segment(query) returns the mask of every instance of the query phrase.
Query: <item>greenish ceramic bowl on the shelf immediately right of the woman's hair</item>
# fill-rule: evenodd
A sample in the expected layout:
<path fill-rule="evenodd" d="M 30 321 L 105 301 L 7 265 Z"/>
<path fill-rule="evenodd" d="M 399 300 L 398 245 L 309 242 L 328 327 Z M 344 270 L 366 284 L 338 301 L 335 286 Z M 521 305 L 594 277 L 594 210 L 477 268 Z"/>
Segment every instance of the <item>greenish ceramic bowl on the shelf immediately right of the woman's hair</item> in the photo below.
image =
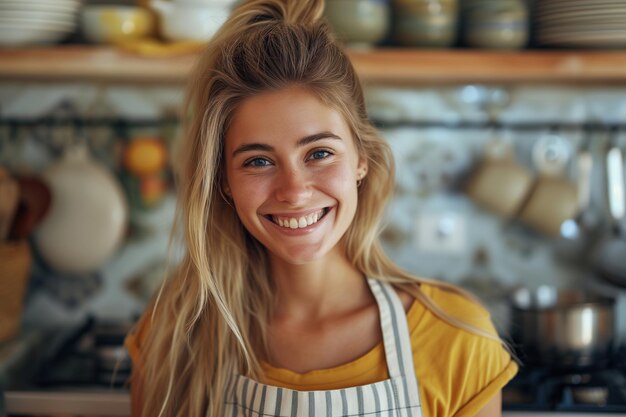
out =
<path fill-rule="evenodd" d="M 339 39 L 352 47 L 381 42 L 390 25 L 390 7 L 380 0 L 327 0 L 326 19 Z"/>

